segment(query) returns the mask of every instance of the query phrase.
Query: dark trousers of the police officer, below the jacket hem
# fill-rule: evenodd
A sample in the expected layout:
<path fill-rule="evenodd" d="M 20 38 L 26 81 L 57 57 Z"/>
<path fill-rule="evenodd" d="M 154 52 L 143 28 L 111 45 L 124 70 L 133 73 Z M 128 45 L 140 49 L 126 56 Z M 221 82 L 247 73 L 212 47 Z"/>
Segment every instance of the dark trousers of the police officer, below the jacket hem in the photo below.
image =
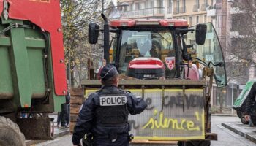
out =
<path fill-rule="evenodd" d="M 118 136 L 116 142 L 110 139 L 94 138 L 94 146 L 129 146 L 129 138 L 127 136 Z"/>

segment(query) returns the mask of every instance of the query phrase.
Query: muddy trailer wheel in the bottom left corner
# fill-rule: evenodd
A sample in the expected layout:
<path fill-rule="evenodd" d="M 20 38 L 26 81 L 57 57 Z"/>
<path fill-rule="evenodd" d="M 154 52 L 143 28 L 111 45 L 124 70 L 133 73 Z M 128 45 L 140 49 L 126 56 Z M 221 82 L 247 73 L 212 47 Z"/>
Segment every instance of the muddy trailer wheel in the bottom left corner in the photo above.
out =
<path fill-rule="evenodd" d="M 16 123 L 0 116 L 0 146 L 6 145 L 26 146 L 25 137 Z"/>

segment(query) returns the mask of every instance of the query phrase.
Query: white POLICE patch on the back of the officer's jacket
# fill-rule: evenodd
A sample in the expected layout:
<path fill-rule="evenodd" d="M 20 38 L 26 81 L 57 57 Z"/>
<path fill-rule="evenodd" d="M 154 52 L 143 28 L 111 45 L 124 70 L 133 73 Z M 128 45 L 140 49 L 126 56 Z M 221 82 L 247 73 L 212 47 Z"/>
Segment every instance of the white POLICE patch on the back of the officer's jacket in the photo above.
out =
<path fill-rule="evenodd" d="M 99 102 L 101 106 L 124 105 L 127 103 L 127 96 L 100 96 Z"/>

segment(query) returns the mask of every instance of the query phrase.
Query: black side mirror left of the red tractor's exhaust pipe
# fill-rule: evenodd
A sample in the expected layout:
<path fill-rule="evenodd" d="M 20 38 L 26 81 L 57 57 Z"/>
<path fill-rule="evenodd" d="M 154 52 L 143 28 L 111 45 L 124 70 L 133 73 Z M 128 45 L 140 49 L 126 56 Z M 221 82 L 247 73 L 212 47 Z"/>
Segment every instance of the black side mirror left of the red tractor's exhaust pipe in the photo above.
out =
<path fill-rule="evenodd" d="M 99 25 L 96 23 L 90 23 L 88 28 L 88 41 L 90 44 L 96 44 L 99 37 Z"/>

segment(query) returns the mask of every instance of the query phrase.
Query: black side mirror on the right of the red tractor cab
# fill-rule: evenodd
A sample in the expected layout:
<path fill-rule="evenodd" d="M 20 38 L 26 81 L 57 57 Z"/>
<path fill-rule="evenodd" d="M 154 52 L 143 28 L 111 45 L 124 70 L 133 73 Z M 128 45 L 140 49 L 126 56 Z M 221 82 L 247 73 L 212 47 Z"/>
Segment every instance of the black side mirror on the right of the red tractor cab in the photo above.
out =
<path fill-rule="evenodd" d="M 198 45 L 204 45 L 206 41 L 206 31 L 207 31 L 206 24 L 197 24 L 196 31 L 195 31 L 195 42 Z"/>

